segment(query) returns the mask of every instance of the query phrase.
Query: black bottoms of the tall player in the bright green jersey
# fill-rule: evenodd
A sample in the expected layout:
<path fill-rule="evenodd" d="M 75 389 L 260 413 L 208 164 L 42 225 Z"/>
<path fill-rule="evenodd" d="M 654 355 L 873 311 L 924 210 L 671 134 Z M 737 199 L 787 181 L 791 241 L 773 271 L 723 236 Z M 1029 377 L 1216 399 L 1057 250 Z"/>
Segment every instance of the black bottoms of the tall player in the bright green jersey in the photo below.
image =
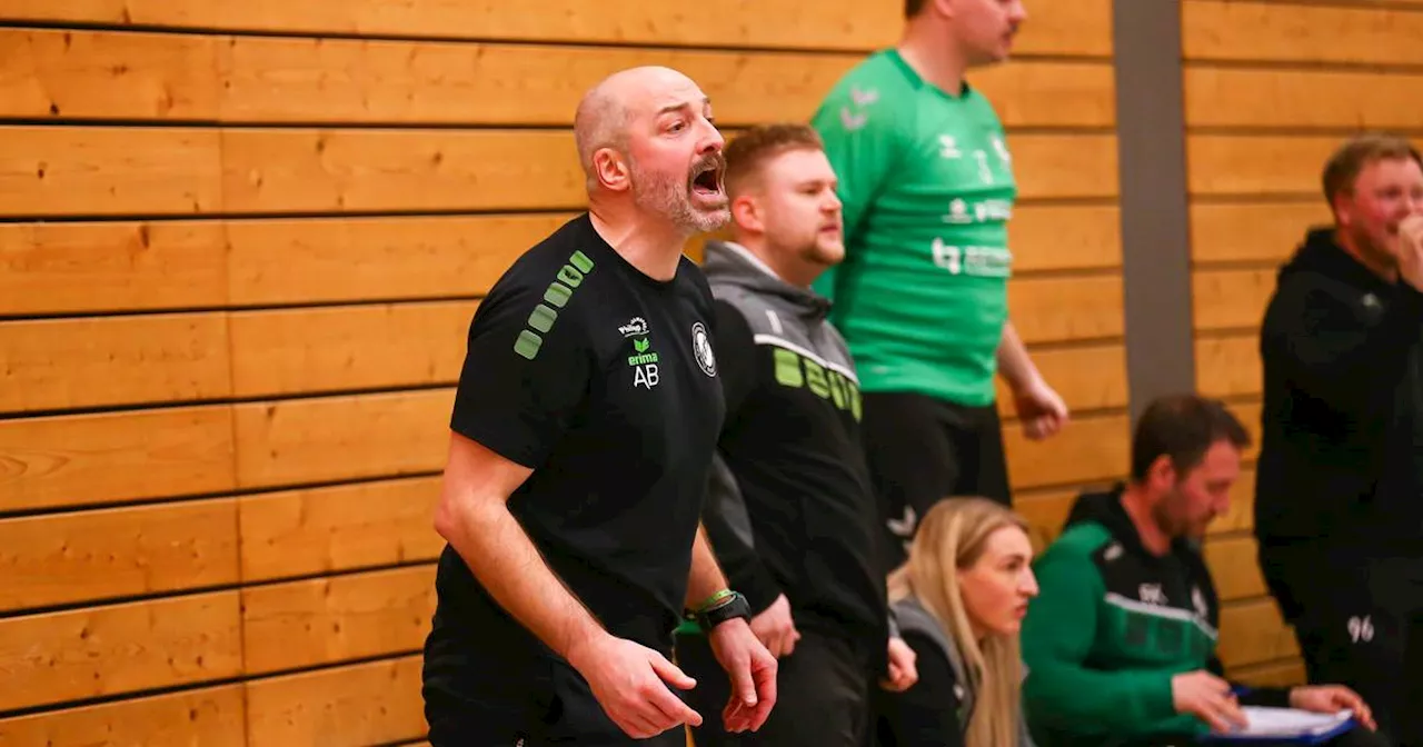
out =
<path fill-rule="evenodd" d="M 955 495 L 1012 505 L 998 407 L 924 394 L 865 393 L 861 434 L 885 516 L 884 571 L 905 561 L 918 518 Z"/>

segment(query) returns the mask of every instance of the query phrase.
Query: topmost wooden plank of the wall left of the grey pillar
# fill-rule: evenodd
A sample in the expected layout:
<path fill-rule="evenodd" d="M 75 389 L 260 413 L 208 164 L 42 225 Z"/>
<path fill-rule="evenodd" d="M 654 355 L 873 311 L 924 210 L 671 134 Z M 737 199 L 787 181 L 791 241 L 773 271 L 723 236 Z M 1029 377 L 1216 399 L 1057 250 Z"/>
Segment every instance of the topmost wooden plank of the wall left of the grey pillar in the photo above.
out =
<path fill-rule="evenodd" d="M 902 7 L 831 0 L 733 0 L 717 13 L 613 3 L 593 9 L 578 0 L 541 0 L 529 13 L 502 3 L 421 0 L 390 4 L 353 0 L 255 0 L 238 9 L 221 0 L 10 0 L 0 20 L 85 21 L 346 36 L 475 37 L 519 41 L 844 48 L 892 44 Z M 1016 50 L 1022 54 L 1111 53 L 1110 0 L 1043 3 L 1032 9 Z"/>

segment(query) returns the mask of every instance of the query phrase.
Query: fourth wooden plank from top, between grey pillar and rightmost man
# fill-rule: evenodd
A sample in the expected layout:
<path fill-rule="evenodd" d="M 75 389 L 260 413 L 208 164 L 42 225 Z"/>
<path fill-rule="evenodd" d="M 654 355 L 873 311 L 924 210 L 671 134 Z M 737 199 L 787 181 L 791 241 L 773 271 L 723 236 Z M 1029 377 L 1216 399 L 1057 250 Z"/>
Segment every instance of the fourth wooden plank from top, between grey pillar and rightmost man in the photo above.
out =
<path fill-rule="evenodd" d="M 1294 255 L 1309 226 L 1331 221 L 1322 195 L 1305 202 L 1198 202 L 1191 205 L 1191 259 L 1278 265 Z"/>

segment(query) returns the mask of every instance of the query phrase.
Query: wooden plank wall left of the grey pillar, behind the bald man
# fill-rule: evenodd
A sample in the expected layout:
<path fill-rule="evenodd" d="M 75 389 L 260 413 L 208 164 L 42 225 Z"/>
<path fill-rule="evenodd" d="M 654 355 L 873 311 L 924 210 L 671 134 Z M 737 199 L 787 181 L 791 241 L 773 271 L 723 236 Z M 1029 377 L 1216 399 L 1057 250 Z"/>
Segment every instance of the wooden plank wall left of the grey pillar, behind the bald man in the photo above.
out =
<path fill-rule="evenodd" d="M 975 81 L 1023 192 L 1013 314 L 1076 413 L 1009 431 L 1044 539 L 1124 470 L 1127 384 L 1110 1 L 1032 11 Z M 420 740 L 464 332 L 582 205 L 579 94 L 663 63 L 730 129 L 804 120 L 899 23 L 0 0 L 0 744 Z"/>

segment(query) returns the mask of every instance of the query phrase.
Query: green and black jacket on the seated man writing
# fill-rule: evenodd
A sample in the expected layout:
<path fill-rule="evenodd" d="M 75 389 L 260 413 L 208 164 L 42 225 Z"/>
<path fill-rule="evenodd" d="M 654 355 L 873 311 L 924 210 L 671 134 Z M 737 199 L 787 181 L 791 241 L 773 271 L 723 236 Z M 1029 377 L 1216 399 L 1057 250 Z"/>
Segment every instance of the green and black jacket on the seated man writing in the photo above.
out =
<path fill-rule="evenodd" d="M 1033 565 L 1042 590 L 1023 623 L 1023 706 L 1043 747 L 1208 730 L 1175 713 L 1171 677 L 1221 674 L 1215 585 L 1191 541 L 1177 539 L 1164 556 L 1147 552 L 1121 491 L 1079 497 Z M 1241 701 L 1284 706 L 1288 692 L 1259 689 Z"/>

